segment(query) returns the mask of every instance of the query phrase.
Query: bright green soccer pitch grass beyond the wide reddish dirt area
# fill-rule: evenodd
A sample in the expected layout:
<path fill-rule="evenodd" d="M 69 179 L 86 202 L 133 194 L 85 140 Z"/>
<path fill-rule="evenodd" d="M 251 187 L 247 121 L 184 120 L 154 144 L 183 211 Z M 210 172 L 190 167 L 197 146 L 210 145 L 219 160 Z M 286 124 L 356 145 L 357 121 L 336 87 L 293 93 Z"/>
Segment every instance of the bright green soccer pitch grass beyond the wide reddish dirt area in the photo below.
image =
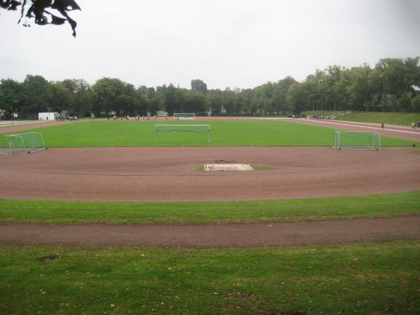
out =
<path fill-rule="evenodd" d="M 42 132 L 48 147 L 83 146 L 208 146 L 207 132 L 158 132 L 155 124 L 179 124 L 162 121 L 86 121 L 43 127 L 25 132 Z M 330 128 L 285 121 L 195 121 L 185 124 L 209 124 L 211 146 L 331 146 Z M 381 137 L 382 146 L 412 146 L 413 141 Z M 420 145 L 420 143 L 418 144 Z"/>

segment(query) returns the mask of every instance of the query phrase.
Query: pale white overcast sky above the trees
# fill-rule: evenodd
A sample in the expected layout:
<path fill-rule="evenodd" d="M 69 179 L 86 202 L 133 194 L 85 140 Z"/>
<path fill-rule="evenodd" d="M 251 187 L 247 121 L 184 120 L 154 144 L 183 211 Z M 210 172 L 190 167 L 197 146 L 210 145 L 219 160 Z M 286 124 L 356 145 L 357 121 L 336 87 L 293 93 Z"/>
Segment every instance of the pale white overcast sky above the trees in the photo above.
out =
<path fill-rule="evenodd" d="M 0 13 L 0 78 L 255 87 L 326 66 L 420 55 L 420 0 L 76 0 L 69 25 Z M 116 4 L 115 4 L 116 3 Z"/>

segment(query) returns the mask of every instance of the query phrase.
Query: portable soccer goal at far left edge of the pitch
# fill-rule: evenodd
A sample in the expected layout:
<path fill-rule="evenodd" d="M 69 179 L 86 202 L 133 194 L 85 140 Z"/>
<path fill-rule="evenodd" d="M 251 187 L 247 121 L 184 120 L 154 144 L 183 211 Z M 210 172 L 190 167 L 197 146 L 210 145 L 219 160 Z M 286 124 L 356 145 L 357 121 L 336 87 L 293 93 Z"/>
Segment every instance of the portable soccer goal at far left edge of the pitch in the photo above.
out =
<path fill-rule="evenodd" d="M 13 152 L 35 153 L 46 150 L 41 132 L 25 134 L 5 134 L 0 141 L 0 154 Z"/>

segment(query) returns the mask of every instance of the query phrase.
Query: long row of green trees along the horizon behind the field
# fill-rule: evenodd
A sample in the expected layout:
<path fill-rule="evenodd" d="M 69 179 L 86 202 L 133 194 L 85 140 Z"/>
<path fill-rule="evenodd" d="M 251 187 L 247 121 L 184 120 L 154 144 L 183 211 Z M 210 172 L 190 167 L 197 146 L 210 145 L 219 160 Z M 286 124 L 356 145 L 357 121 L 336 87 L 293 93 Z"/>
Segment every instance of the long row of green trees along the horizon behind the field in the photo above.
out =
<path fill-rule="evenodd" d="M 134 116 L 157 111 L 214 116 L 289 116 L 302 111 L 420 112 L 419 57 L 381 59 L 346 68 L 328 66 L 298 82 L 287 76 L 252 89 L 209 90 L 200 79 L 190 89 L 173 84 L 135 87 L 118 78 L 100 78 L 93 85 L 83 79 L 48 81 L 28 75 L 23 82 L 0 80 L 0 109 L 7 118 L 36 117 L 55 111 L 78 117 Z"/>

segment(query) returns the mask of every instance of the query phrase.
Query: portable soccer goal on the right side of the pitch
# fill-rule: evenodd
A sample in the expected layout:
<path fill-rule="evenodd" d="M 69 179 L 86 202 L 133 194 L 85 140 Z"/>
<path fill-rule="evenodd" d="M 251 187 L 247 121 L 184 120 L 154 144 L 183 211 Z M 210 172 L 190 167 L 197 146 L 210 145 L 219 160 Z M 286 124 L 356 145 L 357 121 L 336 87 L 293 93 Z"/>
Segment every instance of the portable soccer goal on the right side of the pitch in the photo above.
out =
<path fill-rule="evenodd" d="M 381 134 L 378 132 L 335 132 L 336 149 L 380 150 Z"/>

